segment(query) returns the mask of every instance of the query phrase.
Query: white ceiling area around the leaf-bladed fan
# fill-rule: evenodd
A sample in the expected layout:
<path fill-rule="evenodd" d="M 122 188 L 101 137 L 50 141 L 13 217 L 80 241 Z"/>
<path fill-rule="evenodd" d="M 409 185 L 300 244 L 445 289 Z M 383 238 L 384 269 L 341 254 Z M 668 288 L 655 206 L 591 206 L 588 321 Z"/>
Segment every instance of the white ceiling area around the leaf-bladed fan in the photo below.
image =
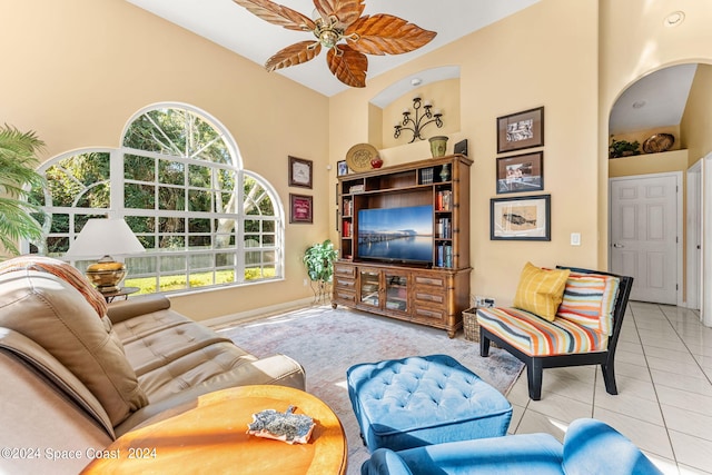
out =
<path fill-rule="evenodd" d="M 231 0 L 126 0 L 166 20 L 205 37 L 258 65 L 280 49 L 314 39 L 308 32 L 290 31 L 268 23 Z M 437 36 L 425 47 L 397 56 L 368 56 L 368 78 L 432 51 L 540 0 L 365 0 L 364 14 L 389 13 Z M 312 17 L 312 0 L 278 0 L 277 3 Z M 326 52 L 299 66 L 279 70 L 284 75 L 325 96 L 334 96 L 347 86 L 326 66 Z"/>

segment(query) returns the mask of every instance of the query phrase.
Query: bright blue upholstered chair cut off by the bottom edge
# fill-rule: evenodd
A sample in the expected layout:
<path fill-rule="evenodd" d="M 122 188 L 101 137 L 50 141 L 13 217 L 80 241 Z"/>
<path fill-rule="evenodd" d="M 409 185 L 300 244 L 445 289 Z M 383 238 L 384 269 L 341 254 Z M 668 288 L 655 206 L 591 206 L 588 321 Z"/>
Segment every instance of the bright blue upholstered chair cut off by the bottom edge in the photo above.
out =
<path fill-rule="evenodd" d="M 375 451 L 362 475 L 662 474 L 631 441 L 594 419 L 574 420 L 562 445 L 548 434 L 448 442 L 407 451 Z"/>

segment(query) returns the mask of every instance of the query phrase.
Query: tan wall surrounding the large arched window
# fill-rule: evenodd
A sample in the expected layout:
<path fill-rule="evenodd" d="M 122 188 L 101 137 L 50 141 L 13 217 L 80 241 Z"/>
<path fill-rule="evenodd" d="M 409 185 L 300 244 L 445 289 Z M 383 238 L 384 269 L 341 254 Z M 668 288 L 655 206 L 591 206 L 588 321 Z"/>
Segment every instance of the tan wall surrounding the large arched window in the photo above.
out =
<path fill-rule="evenodd" d="M 327 196 L 328 99 L 123 0 L 0 0 L 0 120 L 36 130 L 43 159 L 117 147 L 145 106 L 187 102 L 221 121 L 245 168 L 269 180 L 287 211 L 286 280 L 172 298 L 196 319 L 308 298 L 300 256 L 328 237 L 333 202 L 314 225 L 288 224 L 289 192 Z M 287 156 L 314 160 L 314 189 L 288 188 Z"/>

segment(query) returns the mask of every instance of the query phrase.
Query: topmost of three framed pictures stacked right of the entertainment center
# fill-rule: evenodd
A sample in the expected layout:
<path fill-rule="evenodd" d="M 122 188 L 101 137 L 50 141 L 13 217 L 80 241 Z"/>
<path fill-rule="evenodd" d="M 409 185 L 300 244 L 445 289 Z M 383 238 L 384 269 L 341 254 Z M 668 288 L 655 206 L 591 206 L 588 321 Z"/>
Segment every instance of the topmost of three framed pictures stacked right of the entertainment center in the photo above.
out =
<path fill-rule="evenodd" d="M 497 117 L 497 154 L 544 145 L 544 107 Z"/>

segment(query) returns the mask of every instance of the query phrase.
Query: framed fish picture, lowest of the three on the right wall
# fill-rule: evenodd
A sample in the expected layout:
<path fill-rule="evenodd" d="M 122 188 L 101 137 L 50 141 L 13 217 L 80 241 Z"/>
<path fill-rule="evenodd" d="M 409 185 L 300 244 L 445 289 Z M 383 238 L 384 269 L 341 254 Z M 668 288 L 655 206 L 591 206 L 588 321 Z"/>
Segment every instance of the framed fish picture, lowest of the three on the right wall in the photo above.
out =
<path fill-rule="evenodd" d="M 551 195 L 492 198 L 490 239 L 552 240 Z"/>

